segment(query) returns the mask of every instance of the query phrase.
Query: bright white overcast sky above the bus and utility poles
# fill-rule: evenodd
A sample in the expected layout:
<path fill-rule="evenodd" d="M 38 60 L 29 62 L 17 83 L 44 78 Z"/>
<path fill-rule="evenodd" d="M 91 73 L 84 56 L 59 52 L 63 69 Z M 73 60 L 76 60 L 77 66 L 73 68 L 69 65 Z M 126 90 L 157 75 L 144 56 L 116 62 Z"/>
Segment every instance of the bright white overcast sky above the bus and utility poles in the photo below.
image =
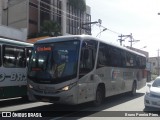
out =
<path fill-rule="evenodd" d="M 93 24 L 92 35 L 120 45 L 119 35 L 130 35 L 139 42 L 132 47 L 149 52 L 157 57 L 160 49 L 160 0 L 86 0 L 91 7 L 91 21 L 102 20 L 102 27 Z M 123 46 L 130 46 L 130 39 Z"/>

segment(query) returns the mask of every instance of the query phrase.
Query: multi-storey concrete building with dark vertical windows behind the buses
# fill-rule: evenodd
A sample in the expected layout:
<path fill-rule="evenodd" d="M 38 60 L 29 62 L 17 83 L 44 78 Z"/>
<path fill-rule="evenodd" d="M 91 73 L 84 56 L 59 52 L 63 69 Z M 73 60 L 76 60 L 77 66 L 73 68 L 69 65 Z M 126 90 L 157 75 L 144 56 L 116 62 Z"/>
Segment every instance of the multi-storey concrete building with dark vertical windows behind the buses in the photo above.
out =
<path fill-rule="evenodd" d="M 91 34 L 90 7 L 75 9 L 68 0 L 3 0 L 2 24 L 13 28 L 27 28 L 28 36 L 40 32 L 45 20 L 61 26 L 61 35 Z M 54 34 L 54 33 L 53 33 Z"/>

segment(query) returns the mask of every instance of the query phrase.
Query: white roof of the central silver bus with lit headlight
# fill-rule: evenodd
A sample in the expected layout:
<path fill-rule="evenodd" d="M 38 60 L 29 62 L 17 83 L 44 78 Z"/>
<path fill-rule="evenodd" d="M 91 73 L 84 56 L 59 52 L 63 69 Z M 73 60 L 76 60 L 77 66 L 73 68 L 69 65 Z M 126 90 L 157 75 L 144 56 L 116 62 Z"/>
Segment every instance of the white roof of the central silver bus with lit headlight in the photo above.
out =
<path fill-rule="evenodd" d="M 46 38 L 46 39 L 39 40 L 39 41 L 35 42 L 35 44 L 51 43 L 51 42 L 62 42 L 62 41 L 68 41 L 68 40 L 86 40 L 86 39 L 96 40 L 96 41 L 99 41 L 99 42 L 102 42 L 102 43 L 106 43 L 106 44 L 108 44 L 108 45 L 111 45 L 111 46 L 114 46 L 114 47 L 123 49 L 123 50 L 125 50 L 125 51 L 129 51 L 129 52 L 138 54 L 138 55 L 140 55 L 140 56 L 146 57 L 146 56 L 145 56 L 144 54 L 142 54 L 142 53 L 133 51 L 133 50 L 128 49 L 128 48 L 126 48 L 126 47 L 122 47 L 122 46 L 119 46 L 119 45 L 116 45 L 116 44 L 112 44 L 112 43 L 110 43 L 110 42 L 107 42 L 107 41 L 105 41 L 105 40 L 98 39 L 98 38 L 93 37 L 93 36 L 90 36 L 90 35 L 68 35 L 68 36 L 50 37 L 50 38 Z"/>

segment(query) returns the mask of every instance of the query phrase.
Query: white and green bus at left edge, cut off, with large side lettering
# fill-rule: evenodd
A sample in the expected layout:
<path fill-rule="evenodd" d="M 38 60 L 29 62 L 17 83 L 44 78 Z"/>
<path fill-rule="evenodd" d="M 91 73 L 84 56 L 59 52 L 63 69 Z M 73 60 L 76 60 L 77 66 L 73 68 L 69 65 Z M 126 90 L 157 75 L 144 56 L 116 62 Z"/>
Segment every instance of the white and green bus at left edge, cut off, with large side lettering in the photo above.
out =
<path fill-rule="evenodd" d="M 27 96 L 27 59 L 33 44 L 0 38 L 0 99 Z"/>

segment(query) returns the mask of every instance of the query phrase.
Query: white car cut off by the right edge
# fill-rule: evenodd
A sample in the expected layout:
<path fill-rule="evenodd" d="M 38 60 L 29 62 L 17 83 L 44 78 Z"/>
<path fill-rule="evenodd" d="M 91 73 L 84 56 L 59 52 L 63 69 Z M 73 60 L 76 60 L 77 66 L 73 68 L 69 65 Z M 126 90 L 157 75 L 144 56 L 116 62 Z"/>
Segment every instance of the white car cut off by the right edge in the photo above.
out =
<path fill-rule="evenodd" d="M 160 108 L 160 77 L 157 77 L 151 83 L 147 83 L 147 86 L 148 90 L 144 96 L 145 108 Z"/>

